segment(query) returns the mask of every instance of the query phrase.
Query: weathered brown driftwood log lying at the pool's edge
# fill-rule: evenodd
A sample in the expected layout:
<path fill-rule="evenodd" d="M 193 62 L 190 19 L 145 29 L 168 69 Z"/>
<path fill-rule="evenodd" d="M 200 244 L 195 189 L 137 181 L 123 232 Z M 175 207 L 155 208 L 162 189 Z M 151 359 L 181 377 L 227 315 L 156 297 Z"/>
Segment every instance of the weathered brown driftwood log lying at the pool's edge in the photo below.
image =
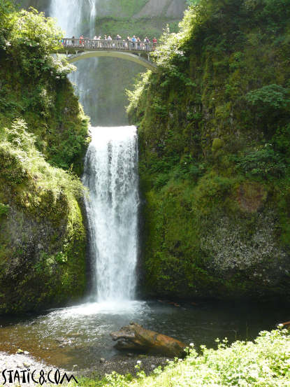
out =
<path fill-rule="evenodd" d="M 141 325 L 130 323 L 117 332 L 110 333 L 116 349 L 143 351 L 146 353 L 160 353 L 174 358 L 184 356 L 186 344 L 166 335 L 147 330 Z"/>

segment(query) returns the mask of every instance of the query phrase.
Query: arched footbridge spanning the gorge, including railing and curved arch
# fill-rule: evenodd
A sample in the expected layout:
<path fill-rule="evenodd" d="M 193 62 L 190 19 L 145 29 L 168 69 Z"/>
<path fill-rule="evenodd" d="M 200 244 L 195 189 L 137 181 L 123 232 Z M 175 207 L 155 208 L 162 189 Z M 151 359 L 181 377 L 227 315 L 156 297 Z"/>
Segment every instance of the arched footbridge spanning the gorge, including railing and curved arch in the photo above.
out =
<path fill-rule="evenodd" d="M 64 38 L 61 44 L 63 47 L 57 53 L 66 54 L 69 63 L 92 57 L 115 57 L 138 63 L 154 72 L 158 69 L 150 60 L 150 53 L 158 43 Z"/>

